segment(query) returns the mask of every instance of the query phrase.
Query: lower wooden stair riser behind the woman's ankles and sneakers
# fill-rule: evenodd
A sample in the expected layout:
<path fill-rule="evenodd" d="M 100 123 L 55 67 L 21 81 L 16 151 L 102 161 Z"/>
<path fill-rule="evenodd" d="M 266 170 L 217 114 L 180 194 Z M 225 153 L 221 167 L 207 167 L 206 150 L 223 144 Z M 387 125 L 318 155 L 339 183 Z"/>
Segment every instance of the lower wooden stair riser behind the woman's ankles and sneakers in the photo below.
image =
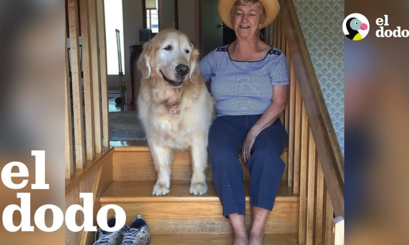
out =
<path fill-rule="evenodd" d="M 152 234 L 232 234 L 228 219 L 222 216 L 218 200 L 113 204 L 125 210 L 126 224 L 130 224 L 137 214 L 142 214 Z M 108 217 L 113 214 L 112 210 L 108 211 Z M 297 214 L 297 201 L 276 200 L 265 224 L 265 233 L 295 234 Z M 245 219 L 247 231 L 249 231 L 251 213 L 248 201 Z"/>

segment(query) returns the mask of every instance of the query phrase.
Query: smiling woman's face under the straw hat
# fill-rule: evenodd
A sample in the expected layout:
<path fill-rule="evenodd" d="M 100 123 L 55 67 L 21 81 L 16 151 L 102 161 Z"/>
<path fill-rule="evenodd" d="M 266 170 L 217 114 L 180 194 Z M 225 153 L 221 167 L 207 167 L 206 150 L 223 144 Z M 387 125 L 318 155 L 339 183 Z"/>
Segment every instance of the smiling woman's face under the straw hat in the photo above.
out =
<path fill-rule="evenodd" d="M 233 28 L 237 37 L 256 35 L 260 20 L 261 13 L 255 4 L 238 6 L 233 16 Z"/>

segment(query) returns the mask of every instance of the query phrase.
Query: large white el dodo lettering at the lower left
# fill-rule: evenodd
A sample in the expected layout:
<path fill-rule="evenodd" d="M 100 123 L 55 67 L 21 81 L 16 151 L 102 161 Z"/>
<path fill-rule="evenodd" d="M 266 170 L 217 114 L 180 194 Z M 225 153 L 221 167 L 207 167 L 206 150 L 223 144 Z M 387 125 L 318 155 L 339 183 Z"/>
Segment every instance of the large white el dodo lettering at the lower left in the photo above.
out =
<path fill-rule="evenodd" d="M 49 189 L 49 184 L 45 183 L 45 150 L 32 150 L 31 155 L 35 156 L 35 183 L 31 184 L 31 189 Z M 17 168 L 18 171 L 12 171 L 13 168 Z M 15 179 L 15 177 L 20 177 Z M 23 178 L 21 180 L 21 177 Z M 1 181 L 10 189 L 24 188 L 28 179 L 27 166 L 19 161 L 10 161 L 1 170 Z M 17 183 L 16 183 L 17 182 Z M 93 223 L 93 193 L 92 192 L 79 192 L 79 198 L 82 200 L 82 206 L 79 204 L 72 204 L 66 207 L 65 210 L 65 225 L 66 227 L 77 232 L 83 229 L 84 231 L 96 231 L 96 226 Z M 31 195 L 30 192 L 17 192 L 17 198 L 20 199 L 20 205 L 9 204 L 3 210 L 3 226 L 10 232 L 21 231 L 34 231 L 34 226 L 31 225 Z M 51 226 L 45 224 L 45 211 L 50 210 L 52 212 Z M 113 209 L 115 212 L 115 224 L 109 227 L 106 222 L 106 216 L 108 210 Z M 20 213 L 20 223 L 14 224 L 13 214 L 14 212 Z M 75 221 L 77 212 L 82 212 L 83 221 L 81 225 L 78 225 Z M 16 215 L 17 216 L 17 215 Z M 17 216 L 18 219 L 18 216 Z M 125 211 L 118 205 L 108 204 L 102 206 L 96 214 L 96 222 L 102 230 L 113 232 L 120 229 L 126 221 Z M 63 211 L 56 205 L 44 204 L 35 211 L 34 223 L 38 229 L 46 232 L 52 232 L 61 227 L 64 222 Z M 49 225 L 49 223 L 48 223 Z"/>

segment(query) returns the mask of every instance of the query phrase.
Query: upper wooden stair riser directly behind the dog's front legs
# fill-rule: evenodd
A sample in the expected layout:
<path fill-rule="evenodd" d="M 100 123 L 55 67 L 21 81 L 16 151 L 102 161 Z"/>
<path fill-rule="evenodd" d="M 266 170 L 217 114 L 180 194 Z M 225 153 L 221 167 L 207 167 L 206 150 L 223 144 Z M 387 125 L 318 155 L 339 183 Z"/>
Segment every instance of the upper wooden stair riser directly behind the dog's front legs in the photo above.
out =
<path fill-rule="evenodd" d="M 286 158 L 285 151 L 281 158 Z M 285 160 L 284 160 L 285 162 Z M 242 163 L 243 179 L 250 179 L 247 167 Z M 150 151 L 118 151 L 113 153 L 113 180 L 156 180 L 156 170 Z M 190 180 L 191 160 L 188 151 L 175 152 L 172 162 L 171 180 Z M 212 180 L 210 164 L 207 165 L 206 179 Z M 282 180 L 287 179 L 284 169 Z"/>

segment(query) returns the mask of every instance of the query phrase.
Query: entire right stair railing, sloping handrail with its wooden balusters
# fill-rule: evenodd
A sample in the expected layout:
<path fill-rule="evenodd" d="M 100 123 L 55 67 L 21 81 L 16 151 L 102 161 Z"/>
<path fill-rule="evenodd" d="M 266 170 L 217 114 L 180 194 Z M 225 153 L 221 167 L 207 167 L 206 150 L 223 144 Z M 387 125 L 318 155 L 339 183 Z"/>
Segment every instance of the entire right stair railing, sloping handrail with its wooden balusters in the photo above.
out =
<path fill-rule="evenodd" d="M 289 137 L 288 186 L 299 195 L 298 244 L 343 244 L 343 155 L 293 2 L 279 3 L 267 41 L 286 54 L 290 73 L 281 120 Z"/>

